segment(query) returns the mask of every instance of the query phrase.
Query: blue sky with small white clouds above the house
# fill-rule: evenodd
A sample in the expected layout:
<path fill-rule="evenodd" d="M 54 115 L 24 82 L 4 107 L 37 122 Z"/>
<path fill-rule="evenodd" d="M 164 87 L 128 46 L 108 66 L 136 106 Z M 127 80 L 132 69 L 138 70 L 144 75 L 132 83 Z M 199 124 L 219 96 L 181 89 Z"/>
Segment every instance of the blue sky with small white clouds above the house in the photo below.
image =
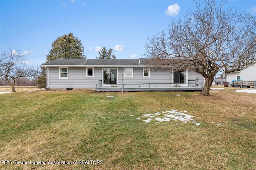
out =
<path fill-rule="evenodd" d="M 255 0 L 231 0 L 229 6 L 256 16 Z M 0 0 L 0 52 L 19 49 L 39 66 L 53 41 L 71 32 L 88 58 L 96 58 L 100 47 L 114 49 L 117 59 L 143 58 L 147 38 L 194 7 L 192 0 Z"/>

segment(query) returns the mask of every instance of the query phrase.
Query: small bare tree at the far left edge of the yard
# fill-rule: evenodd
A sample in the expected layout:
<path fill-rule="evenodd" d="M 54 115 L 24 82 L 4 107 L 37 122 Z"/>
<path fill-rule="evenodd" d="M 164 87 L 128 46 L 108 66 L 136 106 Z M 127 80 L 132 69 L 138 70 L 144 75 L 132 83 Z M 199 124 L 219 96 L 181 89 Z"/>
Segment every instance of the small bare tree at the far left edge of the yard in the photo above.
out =
<path fill-rule="evenodd" d="M 37 69 L 26 65 L 26 57 L 19 50 L 10 49 L 10 52 L 0 54 L 0 77 L 15 90 L 15 82 L 20 77 L 30 77 L 37 74 Z"/>

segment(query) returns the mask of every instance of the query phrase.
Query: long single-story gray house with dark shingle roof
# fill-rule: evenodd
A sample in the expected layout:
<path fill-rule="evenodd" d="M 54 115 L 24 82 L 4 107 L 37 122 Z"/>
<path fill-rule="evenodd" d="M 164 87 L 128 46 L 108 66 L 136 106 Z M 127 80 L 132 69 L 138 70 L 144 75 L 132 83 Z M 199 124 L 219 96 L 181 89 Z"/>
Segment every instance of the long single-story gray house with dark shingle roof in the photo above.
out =
<path fill-rule="evenodd" d="M 124 84 L 204 84 L 204 78 L 194 71 L 160 71 L 148 68 L 145 63 L 146 59 L 57 59 L 41 66 L 47 68 L 50 90 L 95 88 L 98 83 L 116 87 L 122 84 L 122 78 Z"/>

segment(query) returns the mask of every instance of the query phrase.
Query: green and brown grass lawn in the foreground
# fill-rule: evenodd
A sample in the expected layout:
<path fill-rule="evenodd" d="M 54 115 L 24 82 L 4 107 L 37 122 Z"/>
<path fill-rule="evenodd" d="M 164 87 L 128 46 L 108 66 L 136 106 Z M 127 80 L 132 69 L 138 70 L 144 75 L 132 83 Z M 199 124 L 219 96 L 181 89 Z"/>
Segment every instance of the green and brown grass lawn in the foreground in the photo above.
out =
<path fill-rule="evenodd" d="M 255 170 L 256 94 L 230 89 L 1 94 L 0 169 Z M 200 125 L 143 121 L 172 109 Z"/>

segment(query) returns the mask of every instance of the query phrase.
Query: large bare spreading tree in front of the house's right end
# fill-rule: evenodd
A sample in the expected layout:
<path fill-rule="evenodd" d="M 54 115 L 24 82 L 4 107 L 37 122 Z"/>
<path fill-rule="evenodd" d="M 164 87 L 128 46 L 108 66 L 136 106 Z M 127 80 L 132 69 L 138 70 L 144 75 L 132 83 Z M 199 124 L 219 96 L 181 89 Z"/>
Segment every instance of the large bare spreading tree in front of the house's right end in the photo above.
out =
<path fill-rule="evenodd" d="M 224 10 L 226 1 L 196 2 L 184 19 L 172 20 L 168 29 L 148 39 L 145 54 L 158 68 L 193 69 L 205 79 L 202 95 L 218 71 L 239 71 L 256 61 L 256 22 L 245 12 Z"/>

